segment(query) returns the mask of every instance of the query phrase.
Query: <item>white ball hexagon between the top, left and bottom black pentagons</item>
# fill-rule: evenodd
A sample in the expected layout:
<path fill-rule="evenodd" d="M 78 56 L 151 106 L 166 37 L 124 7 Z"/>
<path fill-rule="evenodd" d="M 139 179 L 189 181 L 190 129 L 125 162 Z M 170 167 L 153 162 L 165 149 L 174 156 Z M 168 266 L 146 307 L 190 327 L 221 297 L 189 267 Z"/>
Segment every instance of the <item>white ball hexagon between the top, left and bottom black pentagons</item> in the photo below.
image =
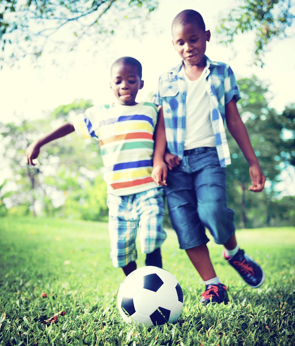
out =
<path fill-rule="evenodd" d="M 159 307 L 156 292 L 142 288 L 133 297 L 135 311 L 150 316 Z"/>

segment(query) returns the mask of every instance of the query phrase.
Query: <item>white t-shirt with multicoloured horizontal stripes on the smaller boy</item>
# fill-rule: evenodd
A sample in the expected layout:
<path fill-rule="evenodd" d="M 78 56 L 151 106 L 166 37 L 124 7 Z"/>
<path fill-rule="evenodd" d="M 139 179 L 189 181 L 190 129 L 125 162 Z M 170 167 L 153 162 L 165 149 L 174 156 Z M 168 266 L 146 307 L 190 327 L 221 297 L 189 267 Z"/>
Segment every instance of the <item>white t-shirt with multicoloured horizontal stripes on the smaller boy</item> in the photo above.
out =
<path fill-rule="evenodd" d="M 153 103 L 141 102 L 94 106 L 73 119 L 79 137 L 99 140 L 108 193 L 122 196 L 158 187 L 151 177 L 157 115 Z"/>

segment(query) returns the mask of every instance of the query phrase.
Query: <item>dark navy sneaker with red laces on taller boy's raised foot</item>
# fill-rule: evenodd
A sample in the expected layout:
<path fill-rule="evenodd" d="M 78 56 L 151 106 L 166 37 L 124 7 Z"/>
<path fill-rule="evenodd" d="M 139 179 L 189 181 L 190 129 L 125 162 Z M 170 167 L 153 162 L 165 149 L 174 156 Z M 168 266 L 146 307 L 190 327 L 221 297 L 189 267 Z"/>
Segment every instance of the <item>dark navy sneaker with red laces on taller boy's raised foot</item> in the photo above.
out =
<path fill-rule="evenodd" d="M 223 251 L 223 257 L 252 288 L 258 288 L 264 283 L 264 271 L 258 263 L 245 254 L 244 250 L 239 249 L 233 257 L 226 257 Z"/>

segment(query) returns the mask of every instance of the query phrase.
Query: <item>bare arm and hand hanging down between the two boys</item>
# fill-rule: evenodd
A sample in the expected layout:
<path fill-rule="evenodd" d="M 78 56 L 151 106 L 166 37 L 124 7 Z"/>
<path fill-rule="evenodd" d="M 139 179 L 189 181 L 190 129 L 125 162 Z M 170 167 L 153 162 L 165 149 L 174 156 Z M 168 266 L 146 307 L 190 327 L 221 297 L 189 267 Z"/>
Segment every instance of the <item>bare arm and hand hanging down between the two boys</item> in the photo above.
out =
<path fill-rule="evenodd" d="M 164 162 L 167 142 L 162 107 L 159 109 L 158 121 L 154 132 L 154 142 L 152 178 L 157 185 L 167 185 L 167 166 Z"/>

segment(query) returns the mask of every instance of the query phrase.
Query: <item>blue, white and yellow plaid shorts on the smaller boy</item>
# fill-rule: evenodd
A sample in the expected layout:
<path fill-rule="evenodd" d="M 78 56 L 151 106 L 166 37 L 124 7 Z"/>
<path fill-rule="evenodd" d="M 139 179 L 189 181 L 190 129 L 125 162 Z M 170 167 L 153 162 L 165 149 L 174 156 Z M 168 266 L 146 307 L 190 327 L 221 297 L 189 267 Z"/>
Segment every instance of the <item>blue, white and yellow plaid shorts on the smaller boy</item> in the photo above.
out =
<path fill-rule="evenodd" d="M 142 253 L 151 253 L 162 245 L 166 239 L 162 227 L 164 201 L 163 188 L 126 196 L 108 194 L 110 256 L 114 267 L 124 267 L 137 259 L 137 229 Z"/>

